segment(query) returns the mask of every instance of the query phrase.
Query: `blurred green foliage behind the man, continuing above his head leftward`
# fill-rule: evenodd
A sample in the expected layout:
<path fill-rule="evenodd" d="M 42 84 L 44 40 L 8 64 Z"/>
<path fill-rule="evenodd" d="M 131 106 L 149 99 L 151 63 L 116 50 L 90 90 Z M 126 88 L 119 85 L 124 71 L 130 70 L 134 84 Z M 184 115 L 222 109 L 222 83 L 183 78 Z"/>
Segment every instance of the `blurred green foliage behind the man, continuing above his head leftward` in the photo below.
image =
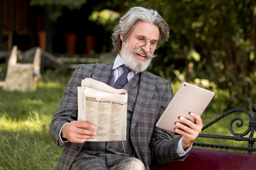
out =
<path fill-rule="evenodd" d="M 33 5 L 61 3 L 70 9 L 88 4 L 31 0 Z M 108 31 L 130 7 L 156 9 L 169 24 L 170 38 L 157 49 L 149 71 L 171 82 L 207 79 L 228 91 L 219 98 L 227 108 L 249 109 L 255 103 L 255 0 L 96 0 L 91 5 L 90 20 Z"/>

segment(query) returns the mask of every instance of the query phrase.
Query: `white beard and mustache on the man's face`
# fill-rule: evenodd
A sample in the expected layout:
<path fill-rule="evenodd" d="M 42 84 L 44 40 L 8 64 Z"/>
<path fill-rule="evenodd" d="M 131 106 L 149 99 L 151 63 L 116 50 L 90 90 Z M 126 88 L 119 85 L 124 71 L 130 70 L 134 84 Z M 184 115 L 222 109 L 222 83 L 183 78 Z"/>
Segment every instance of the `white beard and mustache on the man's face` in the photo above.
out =
<path fill-rule="evenodd" d="M 126 42 L 124 44 L 124 49 L 121 57 L 124 60 L 124 64 L 128 66 L 132 71 L 135 71 L 135 72 L 145 71 L 148 68 L 152 59 L 156 57 L 156 55 L 154 54 L 146 53 L 147 60 L 141 61 L 137 57 L 134 57 L 135 53 L 144 53 L 144 52 L 141 49 L 136 49 L 136 46 L 134 50 L 130 49 L 128 46 L 128 42 Z"/>

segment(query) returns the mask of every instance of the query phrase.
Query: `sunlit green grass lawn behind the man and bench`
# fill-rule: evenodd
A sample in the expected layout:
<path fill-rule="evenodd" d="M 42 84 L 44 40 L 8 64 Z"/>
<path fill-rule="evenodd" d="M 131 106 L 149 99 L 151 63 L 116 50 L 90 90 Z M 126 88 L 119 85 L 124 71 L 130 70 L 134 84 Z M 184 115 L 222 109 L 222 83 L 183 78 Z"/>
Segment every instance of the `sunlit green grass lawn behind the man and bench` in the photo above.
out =
<path fill-rule="evenodd" d="M 56 148 L 50 138 L 49 124 L 56 113 L 66 85 L 66 81 L 39 79 L 36 91 L 27 93 L 7 92 L 0 86 L 0 170 L 54 169 L 62 148 Z M 175 92 L 179 84 L 172 86 Z M 214 104 L 221 105 L 220 102 Z M 209 123 L 221 114 L 203 113 L 203 124 Z M 244 115 L 238 113 L 238 116 L 246 118 Z M 229 135 L 229 121 L 223 119 L 203 132 Z M 196 142 L 233 144 L 233 141 L 200 138 L 196 139 Z M 242 145 L 247 147 L 248 142 Z"/>

